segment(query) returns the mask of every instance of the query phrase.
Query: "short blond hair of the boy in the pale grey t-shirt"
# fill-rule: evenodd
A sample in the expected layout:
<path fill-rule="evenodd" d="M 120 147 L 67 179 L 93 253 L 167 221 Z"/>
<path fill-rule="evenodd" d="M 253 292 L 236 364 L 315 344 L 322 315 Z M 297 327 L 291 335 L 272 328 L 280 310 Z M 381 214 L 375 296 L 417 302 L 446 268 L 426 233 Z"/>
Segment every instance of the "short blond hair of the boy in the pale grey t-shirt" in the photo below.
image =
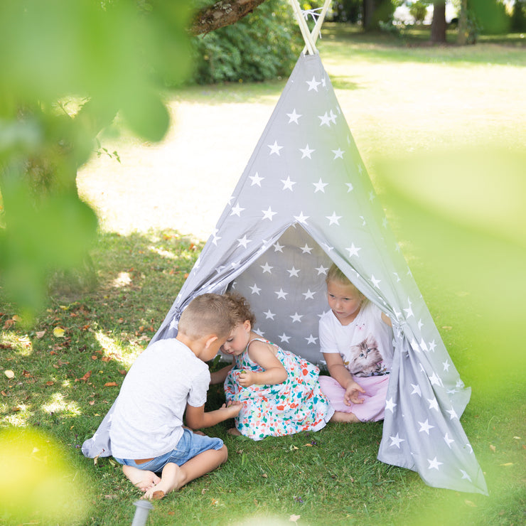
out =
<path fill-rule="evenodd" d="M 213 334 L 227 338 L 235 326 L 230 304 L 220 294 L 201 294 L 185 308 L 179 319 L 178 331 L 192 340 Z"/>

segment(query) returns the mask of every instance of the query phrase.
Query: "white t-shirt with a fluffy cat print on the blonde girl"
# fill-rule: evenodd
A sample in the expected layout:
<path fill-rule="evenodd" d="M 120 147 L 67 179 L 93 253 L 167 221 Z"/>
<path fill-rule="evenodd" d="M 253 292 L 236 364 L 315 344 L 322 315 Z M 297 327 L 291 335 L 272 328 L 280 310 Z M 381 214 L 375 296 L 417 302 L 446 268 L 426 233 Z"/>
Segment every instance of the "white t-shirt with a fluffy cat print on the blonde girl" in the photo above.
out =
<path fill-rule="evenodd" d="M 382 311 L 370 301 L 364 302 L 348 325 L 342 325 L 333 311 L 323 313 L 319 336 L 321 352 L 340 353 L 352 375 L 386 375 L 391 370 L 392 328 L 382 321 Z"/>

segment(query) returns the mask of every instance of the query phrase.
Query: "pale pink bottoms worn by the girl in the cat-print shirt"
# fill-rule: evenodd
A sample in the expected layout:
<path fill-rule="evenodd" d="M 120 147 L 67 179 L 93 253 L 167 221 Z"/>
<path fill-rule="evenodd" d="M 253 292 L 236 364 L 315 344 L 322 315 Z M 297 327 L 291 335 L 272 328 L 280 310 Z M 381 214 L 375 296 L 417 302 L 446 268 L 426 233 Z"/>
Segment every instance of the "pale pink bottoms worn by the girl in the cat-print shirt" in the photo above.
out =
<path fill-rule="evenodd" d="M 365 394 L 360 394 L 362 404 L 345 405 L 343 394 L 345 389 L 331 376 L 320 375 L 321 391 L 331 402 L 335 411 L 353 413 L 360 422 L 377 422 L 383 420 L 385 411 L 385 397 L 389 385 L 390 375 L 353 377 L 355 382 L 363 387 Z"/>

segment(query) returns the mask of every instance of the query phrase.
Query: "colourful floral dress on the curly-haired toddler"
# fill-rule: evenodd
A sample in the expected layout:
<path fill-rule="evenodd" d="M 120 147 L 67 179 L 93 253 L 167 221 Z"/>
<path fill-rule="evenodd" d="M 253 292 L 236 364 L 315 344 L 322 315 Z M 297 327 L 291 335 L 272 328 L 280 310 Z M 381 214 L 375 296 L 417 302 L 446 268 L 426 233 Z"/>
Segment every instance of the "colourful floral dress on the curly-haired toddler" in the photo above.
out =
<path fill-rule="evenodd" d="M 234 357 L 234 367 L 225 380 L 225 394 L 227 401 L 243 402 L 240 414 L 235 417 L 237 430 L 250 439 L 261 440 L 266 436 L 322 429 L 334 410 L 320 390 L 318 367 L 268 340 L 254 340 L 277 348 L 277 358 L 285 367 L 287 377 L 277 385 L 242 387 L 237 382 L 242 370 L 264 369 L 249 358 L 247 350 Z M 249 345 L 254 340 L 250 340 Z"/>

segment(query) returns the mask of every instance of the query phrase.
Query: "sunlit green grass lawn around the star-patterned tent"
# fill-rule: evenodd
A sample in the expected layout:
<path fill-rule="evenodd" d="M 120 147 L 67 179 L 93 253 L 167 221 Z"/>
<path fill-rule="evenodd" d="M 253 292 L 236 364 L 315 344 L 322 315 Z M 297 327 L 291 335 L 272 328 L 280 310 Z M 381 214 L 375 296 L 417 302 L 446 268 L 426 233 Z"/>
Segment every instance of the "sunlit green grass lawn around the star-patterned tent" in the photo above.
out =
<path fill-rule="evenodd" d="M 224 423 L 210 433 L 225 440 L 227 464 L 154 503 L 148 524 L 525 522 L 523 41 L 512 36 L 433 48 L 410 33 L 365 36 L 328 24 L 319 42 L 392 228 L 453 362 L 472 387 L 461 422 L 490 495 L 429 488 L 416 473 L 380 463 L 381 423 L 331 424 L 315 434 L 262 442 L 228 436 Z M 96 289 L 75 293 L 61 281 L 32 328 L 21 327 L 13 307 L 0 301 L 0 524 L 132 523 L 139 493 L 114 461 L 84 458 L 80 445 L 170 308 L 203 246 L 201 231 L 218 218 L 283 85 L 188 87 L 171 95 L 170 104 L 183 116 L 198 111 L 200 120 L 190 114 L 193 127 L 176 120 L 171 135 L 154 148 L 122 133 L 107 139 L 122 168 L 105 159 L 83 168 L 82 191 L 103 218 L 91 252 Z M 243 137 L 230 128 L 240 119 Z M 188 125 L 191 140 L 178 124 L 183 131 Z M 240 144 L 233 154 L 229 149 L 233 161 L 215 156 L 225 151 L 225 136 Z M 178 141 L 198 143 L 196 151 L 207 155 L 186 159 Z M 169 149 L 180 153 L 176 186 L 183 199 L 200 200 L 200 208 L 186 214 L 206 216 L 202 228 L 195 218 L 195 231 L 186 223 L 179 227 L 168 204 L 141 186 L 157 176 Z M 151 161 L 152 155 L 160 156 Z M 137 164 L 140 170 L 132 170 Z M 215 181 L 214 170 L 233 173 Z M 202 190 L 203 172 L 218 186 L 210 203 L 202 191 L 190 193 Z M 120 186 L 112 190 L 117 178 Z M 191 179 L 198 181 L 196 190 L 184 186 Z M 113 211 L 103 193 L 110 194 Z M 141 200 L 154 200 L 166 223 L 148 224 L 153 214 L 142 220 Z M 130 207 L 142 221 L 141 227 L 132 223 L 136 231 L 119 222 Z M 221 402 L 222 393 L 212 387 L 208 404 Z M 25 481 L 19 480 L 25 466 L 11 466 L 9 459 L 26 442 L 6 429 L 45 434 L 31 451 L 36 463 L 28 469 L 35 476 Z"/>

